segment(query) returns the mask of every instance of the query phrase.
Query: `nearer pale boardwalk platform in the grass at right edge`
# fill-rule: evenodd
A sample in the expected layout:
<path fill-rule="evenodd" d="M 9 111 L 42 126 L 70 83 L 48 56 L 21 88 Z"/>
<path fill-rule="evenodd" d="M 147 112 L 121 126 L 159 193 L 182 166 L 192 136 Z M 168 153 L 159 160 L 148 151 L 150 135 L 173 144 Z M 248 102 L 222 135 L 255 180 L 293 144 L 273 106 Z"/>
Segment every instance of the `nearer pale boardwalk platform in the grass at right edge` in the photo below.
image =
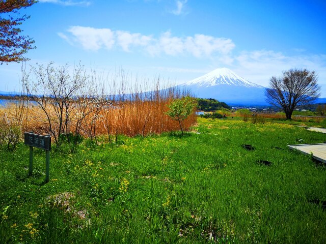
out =
<path fill-rule="evenodd" d="M 320 144 L 301 144 L 301 145 L 288 145 L 292 150 L 296 149 L 303 154 L 311 155 L 323 163 L 326 163 L 326 143 Z"/>

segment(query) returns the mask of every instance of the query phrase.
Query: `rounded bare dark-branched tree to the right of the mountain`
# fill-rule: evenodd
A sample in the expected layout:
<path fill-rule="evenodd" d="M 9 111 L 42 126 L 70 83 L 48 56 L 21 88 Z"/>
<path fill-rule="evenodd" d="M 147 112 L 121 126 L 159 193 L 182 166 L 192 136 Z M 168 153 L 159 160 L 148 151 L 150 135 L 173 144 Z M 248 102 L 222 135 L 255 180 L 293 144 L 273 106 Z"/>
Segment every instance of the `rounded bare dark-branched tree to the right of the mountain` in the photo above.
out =
<path fill-rule="evenodd" d="M 307 69 L 284 71 L 281 77 L 270 78 L 269 88 L 265 90 L 266 101 L 282 108 L 286 118 L 291 119 L 295 108 L 311 104 L 320 96 L 317 80 L 315 71 Z"/>

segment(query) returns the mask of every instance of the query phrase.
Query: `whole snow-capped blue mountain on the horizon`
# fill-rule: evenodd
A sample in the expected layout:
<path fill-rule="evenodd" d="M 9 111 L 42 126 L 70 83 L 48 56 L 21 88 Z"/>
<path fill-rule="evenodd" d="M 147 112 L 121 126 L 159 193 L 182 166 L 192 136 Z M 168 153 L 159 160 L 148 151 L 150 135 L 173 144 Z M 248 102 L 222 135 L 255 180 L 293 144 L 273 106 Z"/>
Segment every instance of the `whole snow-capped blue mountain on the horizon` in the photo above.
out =
<path fill-rule="evenodd" d="M 190 89 L 198 98 L 214 98 L 229 105 L 267 105 L 264 86 L 227 68 L 213 70 L 180 86 Z"/>

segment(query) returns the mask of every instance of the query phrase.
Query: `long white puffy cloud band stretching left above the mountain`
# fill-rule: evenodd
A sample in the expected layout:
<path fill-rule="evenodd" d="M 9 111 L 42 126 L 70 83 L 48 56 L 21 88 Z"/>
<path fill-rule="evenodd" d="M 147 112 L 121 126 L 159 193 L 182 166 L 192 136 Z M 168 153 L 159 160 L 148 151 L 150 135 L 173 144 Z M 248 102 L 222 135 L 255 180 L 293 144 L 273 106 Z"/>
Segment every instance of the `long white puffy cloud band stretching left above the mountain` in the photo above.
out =
<path fill-rule="evenodd" d="M 162 33 L 159 37 L 112 31 L 109 28 L 71 26 L 67 34 L 58 35 L 73 45 L 80 45 L 86 50 L 121 48 L 125 52 L 142 50 L 151 56 L 192 55 L 210 57 L 214 54 L 226 56 L 235 47 L 231 39 L 216 38 L 202 34 L 188 37 L 172 36 L 171 32 Z"/>

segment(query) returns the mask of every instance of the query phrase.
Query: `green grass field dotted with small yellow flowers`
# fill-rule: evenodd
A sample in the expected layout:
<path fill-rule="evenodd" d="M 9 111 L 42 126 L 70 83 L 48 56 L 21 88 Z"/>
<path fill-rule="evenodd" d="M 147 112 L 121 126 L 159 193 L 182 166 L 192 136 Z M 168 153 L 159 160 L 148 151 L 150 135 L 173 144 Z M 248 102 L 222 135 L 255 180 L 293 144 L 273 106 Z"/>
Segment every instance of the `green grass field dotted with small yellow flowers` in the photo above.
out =
<path fill-rule="evenodd" d="M 53 147 L 48 184 L 44 151 L 28 177 L 28 146 L 0 150 L 1 243 L 326 242 L 326 211 L 309 202 L 326 201 L 325 167 L 287 148 L 326 134 L 199 118 L 183 137 L 100 141 Z"/>

